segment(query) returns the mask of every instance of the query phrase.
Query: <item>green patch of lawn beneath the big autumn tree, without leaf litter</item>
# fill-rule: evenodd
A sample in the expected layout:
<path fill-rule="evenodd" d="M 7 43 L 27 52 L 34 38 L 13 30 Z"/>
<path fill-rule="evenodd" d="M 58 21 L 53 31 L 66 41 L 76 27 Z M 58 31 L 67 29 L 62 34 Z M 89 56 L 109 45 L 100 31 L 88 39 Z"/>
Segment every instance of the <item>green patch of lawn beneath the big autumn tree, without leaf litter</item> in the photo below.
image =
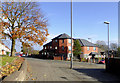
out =
<path fill-rule="evenodd" d="M 11 63 L 13 60 L 18 57 L 9 57 L 9 56 L 0 56 L 0 66 L 6 65 L 6 62 Z"/>

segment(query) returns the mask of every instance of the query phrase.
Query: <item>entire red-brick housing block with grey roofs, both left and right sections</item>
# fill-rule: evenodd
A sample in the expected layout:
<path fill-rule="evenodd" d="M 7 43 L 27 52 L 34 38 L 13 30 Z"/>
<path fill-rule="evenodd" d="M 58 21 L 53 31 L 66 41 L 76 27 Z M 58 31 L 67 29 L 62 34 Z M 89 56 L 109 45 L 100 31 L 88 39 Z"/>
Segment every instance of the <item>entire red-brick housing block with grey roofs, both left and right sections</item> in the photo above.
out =
<path fill-rule="evenodd" d="M 74 42 L 75 39 L 72 39 Z M 98 47 L 93 43 L 85 40 L 78 39 L 82 52 L 81 57 L 88 57 L 89 54 L 98 52 Z M 73 45 L 72 45 L 73 50 Z M 43 49 L 39 52 L 40 57 L 51 58 L 55 60 L 70 60 L 71 56 L 71 37 L 65 33 L 53 38 L 51 42 L 43 45 Z"/>

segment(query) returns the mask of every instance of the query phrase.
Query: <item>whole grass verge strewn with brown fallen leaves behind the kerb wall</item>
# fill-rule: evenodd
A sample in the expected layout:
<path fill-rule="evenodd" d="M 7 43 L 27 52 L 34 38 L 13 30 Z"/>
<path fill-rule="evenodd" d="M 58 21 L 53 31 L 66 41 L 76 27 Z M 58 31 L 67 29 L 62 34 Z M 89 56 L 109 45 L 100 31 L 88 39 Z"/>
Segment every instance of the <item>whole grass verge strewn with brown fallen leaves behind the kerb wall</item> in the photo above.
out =
<path fill-rule="evenodd" d="M 3 56 L 0 57 L 0 60 L 1 60 L 0 78 L 2 78 L 4 76 L 10 75 L 16 70 L 19 70 L 24 61 L 24 58 Z"/>

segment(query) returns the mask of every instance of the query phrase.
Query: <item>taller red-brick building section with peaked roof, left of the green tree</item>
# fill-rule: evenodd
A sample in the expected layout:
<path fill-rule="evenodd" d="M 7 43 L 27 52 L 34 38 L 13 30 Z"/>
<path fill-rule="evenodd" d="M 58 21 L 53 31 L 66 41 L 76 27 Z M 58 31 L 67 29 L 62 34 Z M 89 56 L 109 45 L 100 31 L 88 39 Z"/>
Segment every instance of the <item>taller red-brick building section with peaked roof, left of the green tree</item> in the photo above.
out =
<path fill-rule="evenodd" d="M 73 42 L 73 41 L 72 41 Z M 51 42 L 43 46 L 41 56 L 53 57 L 59 60 L 69 60 L 71 55 L 71 37 L 65 33 L 53 38 Z"/>

